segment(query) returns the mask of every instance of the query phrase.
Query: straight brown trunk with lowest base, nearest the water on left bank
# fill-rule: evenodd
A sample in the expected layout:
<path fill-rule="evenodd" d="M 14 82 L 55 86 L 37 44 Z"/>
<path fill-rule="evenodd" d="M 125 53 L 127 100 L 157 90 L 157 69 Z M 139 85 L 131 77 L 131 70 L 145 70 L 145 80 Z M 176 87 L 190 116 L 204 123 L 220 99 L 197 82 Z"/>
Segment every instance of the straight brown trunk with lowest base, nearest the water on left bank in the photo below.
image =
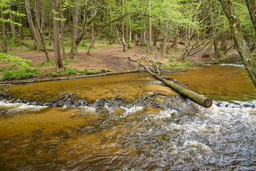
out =
<path fill-rule="evenodd" d="M 54 11 L 58 11 L 58 7 L 57 7 L 57 0 L 52 0 L 52 9 Z M 58 14 L 54 13 L 53 11 L 53 45 L 54 45 L 54 56 L 55 56 L 55 60 L 56 60 L 56 71 L 57 72 L 61 72 L 63 71 L 64 65 L 62 63 L 61 60 L 61 49 L 60 49 L 60 37 L 59 37 L 59 33 L 60 33 L 60 29 L 59 29 L 59 23 L 56 19 L 54 18 L 58 18 Z"/>

